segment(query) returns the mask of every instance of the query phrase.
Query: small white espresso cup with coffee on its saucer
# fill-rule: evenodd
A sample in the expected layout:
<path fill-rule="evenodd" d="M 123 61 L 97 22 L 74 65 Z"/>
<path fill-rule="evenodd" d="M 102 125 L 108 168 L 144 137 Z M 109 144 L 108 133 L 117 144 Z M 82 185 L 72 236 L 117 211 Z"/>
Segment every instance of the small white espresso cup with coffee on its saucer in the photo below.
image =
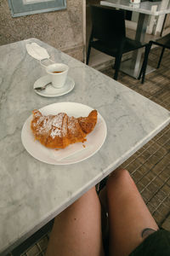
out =
<path fill-rule="evenodd" d="M 46 67 L 46 71 L 51 76 L 52 85 L 61 88 L 65 85 L 69 67 L 63 63 L 54 63 Z"/>

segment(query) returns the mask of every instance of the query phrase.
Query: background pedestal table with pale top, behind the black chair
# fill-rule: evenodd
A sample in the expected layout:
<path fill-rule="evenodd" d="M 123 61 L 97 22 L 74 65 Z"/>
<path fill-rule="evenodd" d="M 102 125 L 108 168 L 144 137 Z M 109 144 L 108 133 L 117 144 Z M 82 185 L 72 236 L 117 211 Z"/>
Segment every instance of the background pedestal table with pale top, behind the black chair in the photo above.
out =
<path fill-rule="evenodd" d="M 105 0 L 100 1 L 101 5 L 117 8 L 117 9 L 125 9 L 130 11 L 135 11 L 139 13 L 138 26 L 136 30 L 135 39 L 144 42 L 144 37 L 148 25 L 148 20 L 150 15 L 166 15 L 170 13 L 170 1 L 167 0 L 162 2 L 142 2 L 139 4 L 129 3 L 128 0 Z M 139 77 L 139 70 L 141 67 L 141 55 L 142 49 L 136 50 L 133 53 L 133 57 L 131 60 L 123 61 L 121 65 L 121 70 L 124 73 L 129 74 L 134 78 Z M 155 70 L 155 68 L 150 67 L 148 65 L 146 73 L 150 73 Z"/>

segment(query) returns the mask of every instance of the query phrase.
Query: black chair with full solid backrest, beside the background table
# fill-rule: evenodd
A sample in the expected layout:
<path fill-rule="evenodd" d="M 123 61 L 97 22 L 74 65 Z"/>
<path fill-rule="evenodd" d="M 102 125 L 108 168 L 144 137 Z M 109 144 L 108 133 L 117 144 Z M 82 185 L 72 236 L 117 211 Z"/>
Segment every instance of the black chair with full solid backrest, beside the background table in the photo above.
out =
<path fill-rule="evenodd" d="M 126 37 L 125 12 L 123 10 L 100 5 L 91 5 L 90 8 L 92 32 L 88 44 L 87 65 L 92 47 L 111 55 L 116 58 L 114 79 L 117 80 L 122 54 L 145 47 L 145 54 L 147 55 L 148 44 L 142 44 Z"/>

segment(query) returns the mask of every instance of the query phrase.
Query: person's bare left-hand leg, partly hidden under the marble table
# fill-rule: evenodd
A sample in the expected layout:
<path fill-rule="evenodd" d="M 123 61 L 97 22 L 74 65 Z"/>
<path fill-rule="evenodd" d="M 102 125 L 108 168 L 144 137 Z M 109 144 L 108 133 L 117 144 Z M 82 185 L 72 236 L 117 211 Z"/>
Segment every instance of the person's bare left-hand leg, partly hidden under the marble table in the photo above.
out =
<path fill-rule="evenodd" d="M 103 256 L 101 208 L 95 188 L 54 221 L 46 256 Z"/>

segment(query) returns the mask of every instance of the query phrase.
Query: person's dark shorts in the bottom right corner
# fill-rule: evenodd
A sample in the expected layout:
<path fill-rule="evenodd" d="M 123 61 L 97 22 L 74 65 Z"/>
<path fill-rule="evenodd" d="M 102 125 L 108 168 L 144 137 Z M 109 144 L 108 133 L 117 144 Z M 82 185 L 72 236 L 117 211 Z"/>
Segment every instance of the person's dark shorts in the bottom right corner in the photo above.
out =
<path fill-rule="evenodd" d="M 157 230 L 147 236 L 129 256 L 170 256 L 170 231 Z"/>

